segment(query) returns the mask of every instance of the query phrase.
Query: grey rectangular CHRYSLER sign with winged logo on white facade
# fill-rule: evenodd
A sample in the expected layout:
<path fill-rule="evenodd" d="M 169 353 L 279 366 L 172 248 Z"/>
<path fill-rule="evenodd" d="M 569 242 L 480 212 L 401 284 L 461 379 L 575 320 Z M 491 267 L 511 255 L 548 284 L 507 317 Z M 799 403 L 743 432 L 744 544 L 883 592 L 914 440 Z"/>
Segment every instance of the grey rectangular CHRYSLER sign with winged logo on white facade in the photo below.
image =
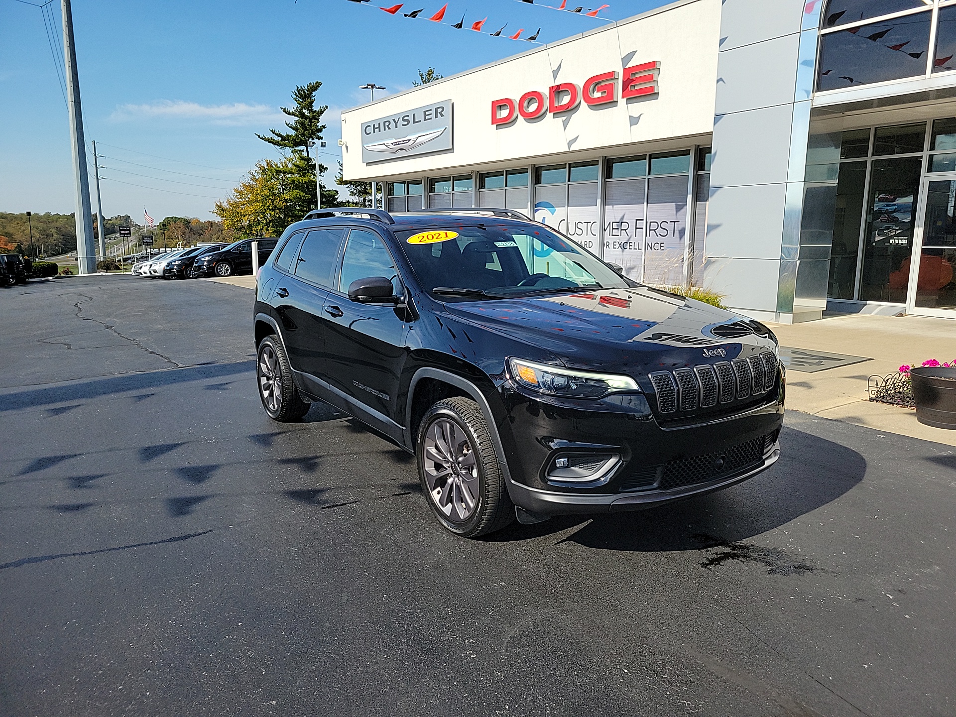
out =
<path fill-rule="evenodd" d="M 363 163 L 402 159 L 451 149 L 451 100 L 362 122 Z"/>

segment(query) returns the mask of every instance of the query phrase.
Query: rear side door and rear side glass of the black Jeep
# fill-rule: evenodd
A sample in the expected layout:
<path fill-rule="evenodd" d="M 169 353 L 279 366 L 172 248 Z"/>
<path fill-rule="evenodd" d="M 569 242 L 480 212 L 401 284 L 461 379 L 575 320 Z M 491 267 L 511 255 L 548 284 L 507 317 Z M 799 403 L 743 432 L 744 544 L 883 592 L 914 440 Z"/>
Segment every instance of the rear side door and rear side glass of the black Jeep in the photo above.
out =
<path fill-rule="evenodd" d="M 344 228 L 320 228 L 293 234 L 278 256 L 285 272 L 276 278 L 272 305 L 280 315 L 283 337 L 293 369 L 314 393 L 321 389 L 325 326 L 322 306 L 332 287 Z M 301 245 L 298 245 L 301 242 Z M 294 243 L 294 244 L 293 244 Z M 289 253 L 287 256 L 287 252 Z"/>

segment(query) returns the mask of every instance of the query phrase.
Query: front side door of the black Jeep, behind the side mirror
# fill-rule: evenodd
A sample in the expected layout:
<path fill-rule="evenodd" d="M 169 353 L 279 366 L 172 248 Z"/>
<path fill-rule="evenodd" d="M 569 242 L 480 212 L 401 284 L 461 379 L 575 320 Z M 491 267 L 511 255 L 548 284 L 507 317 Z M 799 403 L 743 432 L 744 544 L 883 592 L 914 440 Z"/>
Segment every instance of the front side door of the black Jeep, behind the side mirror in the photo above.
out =
<path fill-rule="evenodd" d="M 398 395 L 406 359 L 408 325 L 403 310 L 392 304 L 362 304 L 348 297 L 356 279 L 384 276 L 395 293 L 404 292 L 383 238 L 371 229 L 349 231 L 335 286 L 325 299 L 326 368 L 333 389 L 350 403 L 351 412 L 373 420 L 401 440 Z M 361 414 L 364 413 L 364 416 Z"/>

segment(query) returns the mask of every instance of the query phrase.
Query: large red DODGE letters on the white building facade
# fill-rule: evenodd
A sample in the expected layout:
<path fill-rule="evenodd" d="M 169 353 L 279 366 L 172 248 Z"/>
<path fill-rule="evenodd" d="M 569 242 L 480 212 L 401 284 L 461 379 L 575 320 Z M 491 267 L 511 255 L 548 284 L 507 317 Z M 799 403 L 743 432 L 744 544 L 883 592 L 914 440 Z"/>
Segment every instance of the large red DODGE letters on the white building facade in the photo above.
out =
<path fill-rule="evenodd" d="M 658 94 L 660 62 L 644 62 L 617 71 L 588 77 L 584 84 L 560 82 L 548 88 L 547 94 L 530 90 L 518 98 L 495 99 L 491 102 L 491 124 L 509 125 L 521 116 L 537 120 L 545 114 L 557 115 L 576 110 L 581 101 L 592 107 L 617 102 L 618 98 L 655 98 Z"/>

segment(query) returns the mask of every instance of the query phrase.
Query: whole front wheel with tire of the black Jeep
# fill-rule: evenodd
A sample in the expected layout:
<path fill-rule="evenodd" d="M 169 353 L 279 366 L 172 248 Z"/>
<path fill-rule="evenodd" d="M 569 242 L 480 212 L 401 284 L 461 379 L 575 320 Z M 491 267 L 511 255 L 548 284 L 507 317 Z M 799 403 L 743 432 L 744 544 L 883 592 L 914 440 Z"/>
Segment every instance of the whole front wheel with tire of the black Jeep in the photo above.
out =
<path fill-rule="evenodd" d="M 476 402 L 455 397 L 435 403 L 422 419 L 416 457 L 428 505 L 447 530 L 474 538 L 514 519 L 489 425 Z"/>

